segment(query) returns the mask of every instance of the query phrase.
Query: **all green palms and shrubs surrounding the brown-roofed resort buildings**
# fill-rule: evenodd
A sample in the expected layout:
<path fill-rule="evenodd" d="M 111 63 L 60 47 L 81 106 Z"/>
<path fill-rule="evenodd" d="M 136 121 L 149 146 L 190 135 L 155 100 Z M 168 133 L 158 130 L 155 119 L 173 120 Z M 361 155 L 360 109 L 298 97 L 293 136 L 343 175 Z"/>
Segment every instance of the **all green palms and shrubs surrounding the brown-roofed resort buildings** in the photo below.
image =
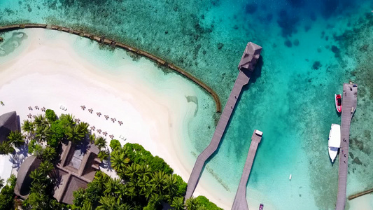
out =
<path fill-rule="evenodd" d="M 45 111 L 45 116 L 39 115 L 34 121 L 24 120 L 22 130 L 27 132 L 29 139 L 29 153 L 42 160 L 40 167 L 29 175 L 33 180 L 29 197 L 20 202 L 14 198 L 13 188 L 15 177 L 8 181 L 8 185 L 1 190 L 0 210 L 14 209 L 22 204 L 22 209 L 62 209 L 52 197 L 53 182 L 50 172 L 58 160 L 58 148 L 62 141 L 80 143 L 87 137 L 87 123 L 76 123 L 71 115 L 57 116 L 52 110 Z M 0 145 L 1 151 L 6 148 L 20 146 L 24 143 L 24 136 L 20 132 L 12 132 L 7 145 Z M 187 183 L 181 176 L 174 174 L 174 170 L 158 156 L 153 156 L 139 144 L 125 144 L 118 140 L 111 140 L 110 148 L 104 137 L 90 135 L 90 141 L 99 149 L 99 158 L 108 160 L 111 167 L 118 174 L 118 179 L 98 171 L 94 180 L 87 188 L 73 192 L 71 209 L 162 209 L 162 204 L 168 203 L 174 209 L 220 209 L 209 202 L 206 197 L 190 198 L 184 204 Z M 42 146 L 44 145 L 44 146 Z M 14 150 L 14 148 L 13 148 Z M 0 185 L 1 185 L 0 181 Z"/>

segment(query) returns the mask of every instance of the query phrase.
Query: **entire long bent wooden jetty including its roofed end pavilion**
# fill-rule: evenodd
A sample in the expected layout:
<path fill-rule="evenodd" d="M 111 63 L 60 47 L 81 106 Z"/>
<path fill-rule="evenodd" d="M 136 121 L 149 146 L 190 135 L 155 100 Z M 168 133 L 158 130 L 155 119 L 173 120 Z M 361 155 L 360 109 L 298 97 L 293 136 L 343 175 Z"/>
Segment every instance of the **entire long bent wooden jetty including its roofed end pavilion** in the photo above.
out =
<path fill-rule="evenodd" d="M 232 92 L 230 92 L 230 97 L 228 98 L 227 104 L 225 104 L 223 113 L 220 116 L 220 120 L 213 134 L 213 138 L 209 146 L 207 146 L 207 148 L 205 148 L 204 151 L 202 151 L 202 153 L 198 155 L 197 161 L 195 162 L 195 166 L 193 167 L 192 173 L 190 174 L 185 194 L 185 200 L 192 197 L 195 188 L 197 187 L 197 183 L 199 181 L 199 177 L 201 176 L 202 169 L 204 167 L 206 160 L 213 153 L 215 153 L 216 149 L 218 148 L 220 140 L 225 132 L 225 127 L 227 127 L 234 106 L 236 106 L 239 94 L 241 94 L 242 87 L 244 87 L 244 85 L 248 83 L 248 80 L 250 80 L 251 73 L 254 70 L 255 63 L 259 59 L 261 50 L 262 47 L 256 45 L 255 43 L 249 42 L 246 45 L 244 55 L 242 55 L 241 61 L 238 66 L 239 75 L 237 76 L 236 82 L 234 83 Z"/>

